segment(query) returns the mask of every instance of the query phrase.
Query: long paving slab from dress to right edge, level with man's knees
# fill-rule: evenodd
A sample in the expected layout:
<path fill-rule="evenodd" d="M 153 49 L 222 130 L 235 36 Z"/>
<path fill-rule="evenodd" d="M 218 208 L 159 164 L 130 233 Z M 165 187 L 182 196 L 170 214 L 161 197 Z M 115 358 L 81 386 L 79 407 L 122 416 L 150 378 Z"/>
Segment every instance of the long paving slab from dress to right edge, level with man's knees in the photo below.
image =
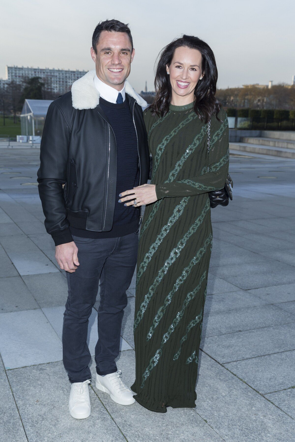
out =
<path fill-rule="evenodd" d="M 203 332 L 207 337 L 294 322 L 294 315 L 274 305 L 212 312 L 204 315 Z"/>

